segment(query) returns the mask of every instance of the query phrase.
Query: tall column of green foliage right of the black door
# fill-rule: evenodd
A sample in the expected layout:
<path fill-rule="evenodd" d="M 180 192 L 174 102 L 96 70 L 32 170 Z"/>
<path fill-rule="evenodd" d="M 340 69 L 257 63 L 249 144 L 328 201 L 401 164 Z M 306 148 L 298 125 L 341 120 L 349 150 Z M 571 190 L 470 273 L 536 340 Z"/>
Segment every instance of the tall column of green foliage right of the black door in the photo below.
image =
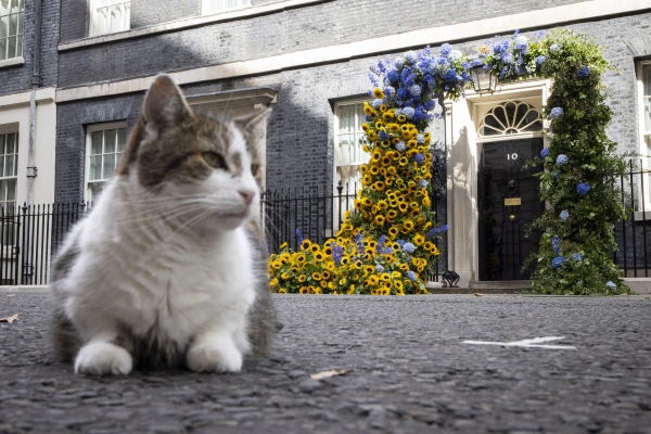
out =
<path fill-rule="evenodd" d="M 549 204 L 533 224 L 546 230 L 538 253 L 529 258 L 537 263 L 532 276 L 533 292 L 629 293 L 611 260 L 611 250 L 617 248 L 614 225 L 626 218 L 623 192 L 613 174 L 625 171 L 627 155 L 617 154 L 616 143 L 605 135 L 613 112 L 605 104 L 608 93 L 600 79 L 609 64 L 592 37 L 570 30 L 552 31 L 539 47 L 547 58 L 540 75 L 553 79 L 545 116 L 551 119 L 551 111 L 557 107 L 563 114 L 551 119 L 550 128 L 545 131 L 550 143 L 549 155 L 531 163 L 542 164 L 546 169 L 538 177 L 540 200 Z M 589 74 L 582 78 L 577 73 L 584 66 Z M 558 164 L 559 155 L 565 155 L 569 162 Z M 587 194 L 577 192 L 579 183 L 590 186 Z M 569 213 L 565 220 L 560 217 L 564 209 Z M 561 241 L 560 251 L 556 252 L 554 237 Z M 577 255 L 583 260 L 576 259 Z M 552 261 L 559 256 L 565 263 L 557 269 Z M 616 289 L 609 289 L 609 281 Z"/>

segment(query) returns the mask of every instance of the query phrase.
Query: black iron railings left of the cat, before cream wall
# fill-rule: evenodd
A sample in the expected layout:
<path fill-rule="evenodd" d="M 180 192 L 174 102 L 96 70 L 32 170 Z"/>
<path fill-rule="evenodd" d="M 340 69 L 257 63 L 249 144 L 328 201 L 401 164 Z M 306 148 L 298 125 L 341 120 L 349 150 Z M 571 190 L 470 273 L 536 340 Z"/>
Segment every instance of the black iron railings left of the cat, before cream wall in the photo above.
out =
<path fill-rule="evenodd" d="M 0 284 L 48 284 L 52 257 L 85 212 L 62 203 L 0 209 Z"/>

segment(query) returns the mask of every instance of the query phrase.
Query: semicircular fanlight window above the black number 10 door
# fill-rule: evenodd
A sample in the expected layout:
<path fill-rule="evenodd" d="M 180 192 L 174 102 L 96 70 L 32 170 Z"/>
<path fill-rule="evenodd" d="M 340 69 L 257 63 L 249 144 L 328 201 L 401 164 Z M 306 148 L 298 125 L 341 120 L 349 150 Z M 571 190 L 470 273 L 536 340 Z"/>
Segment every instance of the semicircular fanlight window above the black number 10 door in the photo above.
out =
<path fill-rule="evenodd" d="M 542 129 L 542 117 L 533 105 L 520 101 L 509 101 L 493 107 L 482 122 L 480 137 L 519 135 Z"/>

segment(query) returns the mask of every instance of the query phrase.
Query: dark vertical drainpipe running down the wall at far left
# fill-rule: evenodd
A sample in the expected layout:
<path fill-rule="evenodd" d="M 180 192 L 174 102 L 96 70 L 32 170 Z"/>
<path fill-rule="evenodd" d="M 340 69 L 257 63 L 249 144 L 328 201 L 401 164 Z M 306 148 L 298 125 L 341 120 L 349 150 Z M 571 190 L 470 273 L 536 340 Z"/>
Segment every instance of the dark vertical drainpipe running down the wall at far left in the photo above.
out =
<path fill-rule="evenodd" d="M 25 219 L 25 213 L 34 207 L 34 178 L 38 175 L 38 169 L 34 166 L 34 145 L 36 143 L 36 90 L 40 87 L 41 0 L 36 0 L 35 5 L 34 72 L 31 74 L 31 97 L 29 99 L 29 145 L 27 148 L 27 206 L 23 207 L 23 225 L 26 225 L 28 221 Z M 31 276 L 34 275 L 34 265 L 29 263 L 29 257 L 31 256 L 31 237 L 30 231 L 25 231 L 25 229 L 27 228 L 23 227 L 23 234 L 27 233 L 27 239 L 24 238 L 22 283 L 30 284 Z"/>

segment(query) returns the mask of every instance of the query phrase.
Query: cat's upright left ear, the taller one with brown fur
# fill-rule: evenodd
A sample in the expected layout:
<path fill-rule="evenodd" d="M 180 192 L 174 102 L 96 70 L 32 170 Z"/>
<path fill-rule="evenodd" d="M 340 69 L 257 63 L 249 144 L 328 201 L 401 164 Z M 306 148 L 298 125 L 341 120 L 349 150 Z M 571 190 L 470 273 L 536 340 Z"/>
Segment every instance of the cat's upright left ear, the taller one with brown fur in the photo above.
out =
<path fill-rule="evenodd" d="M 184 116 L 192 116 L 192 111 L 181 89 L 168 75 L 159 74 L 144 97 L 142 114 L 146 124 L 161 130 Z"/>

